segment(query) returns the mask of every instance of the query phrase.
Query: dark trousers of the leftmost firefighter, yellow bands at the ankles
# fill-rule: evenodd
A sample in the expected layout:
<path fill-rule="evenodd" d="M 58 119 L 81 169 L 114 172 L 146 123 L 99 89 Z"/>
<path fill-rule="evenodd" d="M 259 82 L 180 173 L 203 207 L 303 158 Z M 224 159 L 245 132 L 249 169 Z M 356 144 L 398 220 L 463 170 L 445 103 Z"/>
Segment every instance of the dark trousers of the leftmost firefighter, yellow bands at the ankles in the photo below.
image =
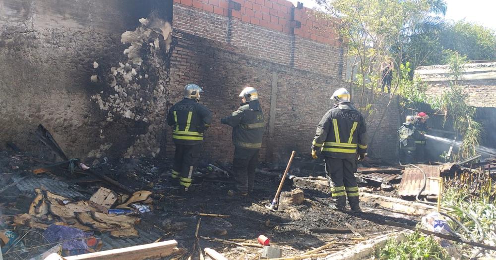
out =
<path fill-rule="evenodd" d="M 191 185 L 191 176 L 193 175 L 196 161 L 200 155 L 200 147 L 200 144 L 176 144 L 172 178 L 179 180 L 179 183 L 186 188 Z"/>

